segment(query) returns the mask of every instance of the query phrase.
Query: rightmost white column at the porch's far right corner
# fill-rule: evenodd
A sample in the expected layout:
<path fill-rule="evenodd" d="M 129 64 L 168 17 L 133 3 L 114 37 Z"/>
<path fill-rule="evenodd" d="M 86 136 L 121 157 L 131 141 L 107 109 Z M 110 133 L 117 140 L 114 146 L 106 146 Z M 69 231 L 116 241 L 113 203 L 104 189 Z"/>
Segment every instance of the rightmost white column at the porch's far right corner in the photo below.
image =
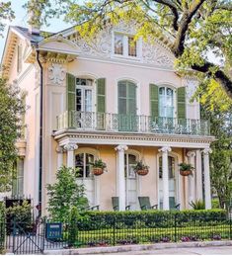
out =
<path fill-rule="evenodd" d="M 209 147 L 204 148 L 203 152 L 203 176 L 204 176 L 204 200 L 205 209 L 211 209 L 211 189 L 210 189 L 210 173 L 209 173 L 209 153 L 211 149 Z"/>

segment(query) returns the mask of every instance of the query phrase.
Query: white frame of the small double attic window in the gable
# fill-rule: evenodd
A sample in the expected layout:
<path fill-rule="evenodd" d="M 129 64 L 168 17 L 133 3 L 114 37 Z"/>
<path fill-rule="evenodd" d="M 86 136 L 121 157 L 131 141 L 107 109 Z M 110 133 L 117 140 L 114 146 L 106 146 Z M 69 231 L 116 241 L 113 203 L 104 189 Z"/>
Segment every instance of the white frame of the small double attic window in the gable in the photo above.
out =
<path fill-rule="evenodd" d="M 116 34 L 122 35 L 123 40 L 122 40 L 122 54 L 116 54 L 115 53 L 115 37 Z M 134 35 L 131 34 L 126 34 L 122 32 L 117 32 L 113 31 L 112 33 L 112 57 L 113 58 L 124 58 L 124 59 L 130 59 L 130 60 L 141 60 L 141 52 L 142 52 L 142 40 L 139 38 L 136 41 L 136 56 L 129 56 L 128 55 L 128 38 L 129 37 L 134 37 Z"/>

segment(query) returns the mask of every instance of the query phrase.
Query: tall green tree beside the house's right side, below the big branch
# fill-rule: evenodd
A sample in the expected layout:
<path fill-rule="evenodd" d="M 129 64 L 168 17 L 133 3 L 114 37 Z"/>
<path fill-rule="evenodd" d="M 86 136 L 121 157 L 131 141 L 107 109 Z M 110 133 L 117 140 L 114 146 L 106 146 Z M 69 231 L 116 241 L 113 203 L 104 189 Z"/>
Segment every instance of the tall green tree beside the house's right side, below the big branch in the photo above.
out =
<path fill-rule="evenodd" d="M 211 143 L 211 187 L 220 208 L 228 209 L 232 196 L 232 101 L 217 91 L 218 84 L 214 81 L 202 83 L 198 90 L 201 117 L 210 121 L 211 134 L 217 139 Z"/>

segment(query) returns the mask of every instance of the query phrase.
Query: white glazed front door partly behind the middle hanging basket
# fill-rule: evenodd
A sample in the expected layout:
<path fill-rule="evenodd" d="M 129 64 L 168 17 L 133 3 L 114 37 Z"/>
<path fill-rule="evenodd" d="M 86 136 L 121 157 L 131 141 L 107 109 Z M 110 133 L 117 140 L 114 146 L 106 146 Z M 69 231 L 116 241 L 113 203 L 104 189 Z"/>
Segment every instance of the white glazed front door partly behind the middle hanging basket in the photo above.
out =
<path fill-rule="evenodd" d="M 130 206 L 130 210 L 137 210 L 137 175 L 133 169 L 136 158 L 133 154 L 124 155 L 125 203 L 126 206 Z"/>

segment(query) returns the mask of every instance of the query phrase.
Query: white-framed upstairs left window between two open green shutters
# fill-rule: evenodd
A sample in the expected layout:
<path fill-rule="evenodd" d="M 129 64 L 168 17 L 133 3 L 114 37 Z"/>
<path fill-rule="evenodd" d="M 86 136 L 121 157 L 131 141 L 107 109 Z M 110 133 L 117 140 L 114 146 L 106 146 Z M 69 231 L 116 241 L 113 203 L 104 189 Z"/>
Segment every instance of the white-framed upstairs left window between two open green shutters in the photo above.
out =
<path fill-rule="evenodd" d="M 76 79 L 76 111 L 93 111 L 93 82 L 87 78 Z"/>

